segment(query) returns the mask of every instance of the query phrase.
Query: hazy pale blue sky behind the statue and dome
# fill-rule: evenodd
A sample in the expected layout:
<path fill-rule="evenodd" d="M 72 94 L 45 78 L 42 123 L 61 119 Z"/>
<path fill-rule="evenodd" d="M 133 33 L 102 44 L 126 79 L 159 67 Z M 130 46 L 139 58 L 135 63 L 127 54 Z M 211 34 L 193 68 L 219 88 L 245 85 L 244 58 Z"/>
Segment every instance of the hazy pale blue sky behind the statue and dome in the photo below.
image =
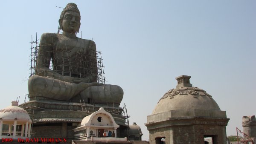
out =
<path fill-rule="evenodd" d="M 29 76 L 31 36 L 57 32 L 61 8 L 76 3 L 79 37 L 102 52 L 107 84 L 124 90 L 130 124 L 144 123 L 179 75 L 212 95 L 230 121 L 227 135 L 256 114 L 255 0 L 5 0 L 1 1 L 0 109 L 20 96 Z M 121 106 L 122 107 L 122 106 Z"/>

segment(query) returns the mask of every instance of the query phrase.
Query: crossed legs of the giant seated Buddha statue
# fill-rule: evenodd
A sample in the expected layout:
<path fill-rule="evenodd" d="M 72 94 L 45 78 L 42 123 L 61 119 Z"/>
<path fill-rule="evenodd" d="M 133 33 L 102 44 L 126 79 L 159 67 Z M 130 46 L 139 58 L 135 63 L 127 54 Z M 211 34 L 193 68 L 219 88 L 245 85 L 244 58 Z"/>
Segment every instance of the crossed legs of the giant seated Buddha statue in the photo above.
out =
<path fill-rule="evenodd" d="M 98 83 L 69 83 L 58 79 L 33 75 L 29 78 L 30 98 L 43 97 L 52 100 L 120 104 L 123 90 L 120 86 Z"/>

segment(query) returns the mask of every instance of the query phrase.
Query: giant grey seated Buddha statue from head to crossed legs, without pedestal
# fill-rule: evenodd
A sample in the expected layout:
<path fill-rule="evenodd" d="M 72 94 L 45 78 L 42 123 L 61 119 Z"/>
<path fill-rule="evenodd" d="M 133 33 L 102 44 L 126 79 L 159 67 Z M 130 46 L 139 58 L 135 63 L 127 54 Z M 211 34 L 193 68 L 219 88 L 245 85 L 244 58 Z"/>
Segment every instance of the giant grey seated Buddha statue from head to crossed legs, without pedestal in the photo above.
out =
<path fill-rule="evenodd" d="M 76 4 L 68 3 L 58 21 L 63 33 L 41 36 L 35 75 L 28 81 L 30 101 L 83 100 L 94 104 L 122 101 L 120 86 L 97 83 L 96 44 L 76 37 L 80 19 Z"/>

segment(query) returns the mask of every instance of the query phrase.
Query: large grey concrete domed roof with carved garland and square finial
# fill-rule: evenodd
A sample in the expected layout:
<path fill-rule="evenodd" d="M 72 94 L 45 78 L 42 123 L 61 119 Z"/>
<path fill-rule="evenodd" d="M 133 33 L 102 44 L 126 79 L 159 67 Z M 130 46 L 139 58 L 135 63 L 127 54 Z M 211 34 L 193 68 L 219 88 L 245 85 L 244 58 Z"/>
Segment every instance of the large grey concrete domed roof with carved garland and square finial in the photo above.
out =
<path fill-rule="evenodd" d="M 203 89 L 192 87 L 189 78 L 186 75 L 177 77 L 176 89 L 170 89 L 160 98 L 152 115 L 182 109 L 220 110 L 211 95 Z"/>

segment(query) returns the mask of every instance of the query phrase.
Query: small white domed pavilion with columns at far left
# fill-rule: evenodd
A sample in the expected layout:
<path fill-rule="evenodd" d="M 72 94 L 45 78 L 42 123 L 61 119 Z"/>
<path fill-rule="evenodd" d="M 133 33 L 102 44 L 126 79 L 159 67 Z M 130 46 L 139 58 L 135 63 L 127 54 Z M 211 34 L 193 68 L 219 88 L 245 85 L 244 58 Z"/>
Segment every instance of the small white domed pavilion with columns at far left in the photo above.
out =
<path fill-rule="evenodd" d="M 0 110 L 0 139 L 30 138 L 31 123 L 32 121 L 26 110 L 18 107 L 17 101 L 12 101 L 11 106 Z M 9 130 L 3 130 L 4 125 L 9 125 Z M 21 126 L 21 131 L 17 130 L 17 126 Z"/>

